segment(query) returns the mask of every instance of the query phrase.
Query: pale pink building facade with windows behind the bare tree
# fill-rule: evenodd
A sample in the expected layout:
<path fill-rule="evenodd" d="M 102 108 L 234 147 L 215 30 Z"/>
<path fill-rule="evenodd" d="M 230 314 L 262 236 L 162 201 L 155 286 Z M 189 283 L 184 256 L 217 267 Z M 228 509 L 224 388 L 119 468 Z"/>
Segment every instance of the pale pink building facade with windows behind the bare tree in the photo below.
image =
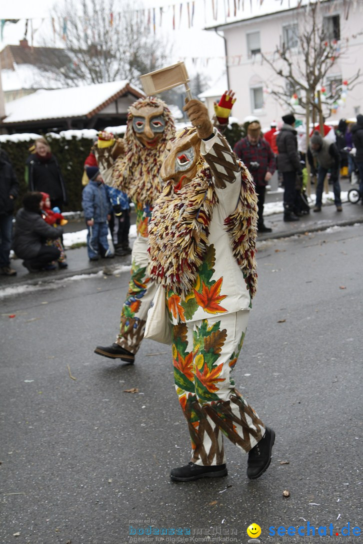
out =
<path fill-rule="evenodd" d="M 291 5 L 295 4 L 296 7 L 290 9 L 286 9 L 286 2 L 265 2 L 265 13 L 248 13 L 238 21 L 218 24 L 212 28 L 218 32 L 222 30 L 225 38 L 227 79 L 237 96 L 233 115 L 239 122 L 249 115 L 255 115 L 263 127 L 268 127 L 270 122 L 280 121 L 281 116 L 290 113 L 293 108 L 287 104 L 281 105 L 270 94 L 270 89 L 286 86 L 286 82 L 263 60 L 261 53 L 275 66 L 282 67 L 284 63 L 275 51 L 285 44 L 291 50 L 293 63 L 301 63 L 302 51 L 299 51 L 298 36 L 304 31 L 307 17 L 306 6 L 297 7 L 300 4 L 298 0 L 291 0 Z M 319 24 L 337 44 L 337 51 L 342 53 L 322 82 L 329 94 L 332 86 L 349 81 L 359 70 L 363 74 L 363 2 L 352 0 L 347 10 L 347 1 L 321 0 L 319 17 Z M 329 122 L 341 118 L 353 120 L 357 114 L 363 113 L 362 79 L 359 78 L 358 82 L 352 90 L 348 87 L 343 100 L 338 101 L 338 107 L 333 112 L 323 107 Z M 291 93 L 291 97 L 295 92 L 296 89 L 287 89 L 287 95 Z M 297 106 L 295 111 L 297 118 L 304 118 L 301 107 Z"/>

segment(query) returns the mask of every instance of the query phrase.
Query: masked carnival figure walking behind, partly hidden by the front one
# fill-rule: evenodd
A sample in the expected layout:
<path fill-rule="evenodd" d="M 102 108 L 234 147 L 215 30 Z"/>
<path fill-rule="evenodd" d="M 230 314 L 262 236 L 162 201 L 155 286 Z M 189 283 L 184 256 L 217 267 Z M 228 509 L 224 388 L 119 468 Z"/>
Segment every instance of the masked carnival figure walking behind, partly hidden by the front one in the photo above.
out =
<path fill-rule="evenodd" d="M 154 202 L 162 189 L 159 172 L 166 146 L 174 133 L 174 120 L 167 105 L 149 97 L 140 98 L 130 106 L 123 140 L 100 134 L 96 157 L 103 180 L 130 197 L 137 216 L 131 280 L 121 310 L 120 332 L 112 345 L 95 349 L 95 353 L 104 357 L 133 363 L 144 337 L 147 310 L 156 291 L 147 274 L 147 230 Z"/>

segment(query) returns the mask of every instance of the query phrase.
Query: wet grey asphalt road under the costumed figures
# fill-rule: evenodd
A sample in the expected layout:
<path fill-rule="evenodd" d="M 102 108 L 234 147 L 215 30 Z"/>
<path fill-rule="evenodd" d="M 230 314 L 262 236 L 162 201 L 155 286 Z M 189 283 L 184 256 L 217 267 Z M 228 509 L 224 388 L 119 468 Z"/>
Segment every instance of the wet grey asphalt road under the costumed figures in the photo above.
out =
<path fill-rule="evenodd" d="M 330 543 L 349 523 L 344 541 L 360 542 L 362 247 L 361 225 L 260 243 L 235 369 L 238 389 L 276 431 L 256 481 L 229 443 L 226 478 L 170 481 L 170 468 L 189 461 L 170 348 L 145 341 L 134 366 L 93 353 L 116 335 L 127 273 L 4 299 L 0 542 L 241 544 L 253 522 L 262 544 L 302 542 L 269 527 L 306 535 L 307 523 L 328 535 L 333 524 Z M 150 525 L 169 536 L 147 535 Z M 175 528 L 183 536 L 170 536 Z"/>

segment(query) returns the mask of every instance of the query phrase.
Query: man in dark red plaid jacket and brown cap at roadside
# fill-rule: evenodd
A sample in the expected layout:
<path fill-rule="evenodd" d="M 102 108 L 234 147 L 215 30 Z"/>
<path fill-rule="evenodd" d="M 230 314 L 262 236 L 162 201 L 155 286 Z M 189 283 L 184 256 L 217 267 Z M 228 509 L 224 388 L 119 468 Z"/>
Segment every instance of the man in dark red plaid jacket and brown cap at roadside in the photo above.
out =
<path fill-rule="evenodd" d="M 256 186 L 259 208 L 258 231 L 272 232 L 272 228 L 264 225 L 263 206 L 266 186 L 276 170 L 276 161 L 269 143 L 261 137 L 259 121 L 253 121 L 248 125 L 247 136 L 237 142 L 233 151 L 247 166 Z"/>

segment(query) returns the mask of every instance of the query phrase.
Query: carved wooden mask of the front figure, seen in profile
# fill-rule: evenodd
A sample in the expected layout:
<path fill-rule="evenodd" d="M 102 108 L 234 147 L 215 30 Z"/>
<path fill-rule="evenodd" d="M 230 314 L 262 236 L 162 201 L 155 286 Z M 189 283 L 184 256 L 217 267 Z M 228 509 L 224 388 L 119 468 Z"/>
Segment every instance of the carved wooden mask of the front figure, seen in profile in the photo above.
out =
<path fill-rule="evenodd" d="M 160 175 L 164 182 L 172 180 L 174 190 L 179 191 L 193 180 L 202 161 L 200 138 L 195 129 L 184 129 L 168 143 L 167 149 L 169 155 L 163 162 Z"/>

